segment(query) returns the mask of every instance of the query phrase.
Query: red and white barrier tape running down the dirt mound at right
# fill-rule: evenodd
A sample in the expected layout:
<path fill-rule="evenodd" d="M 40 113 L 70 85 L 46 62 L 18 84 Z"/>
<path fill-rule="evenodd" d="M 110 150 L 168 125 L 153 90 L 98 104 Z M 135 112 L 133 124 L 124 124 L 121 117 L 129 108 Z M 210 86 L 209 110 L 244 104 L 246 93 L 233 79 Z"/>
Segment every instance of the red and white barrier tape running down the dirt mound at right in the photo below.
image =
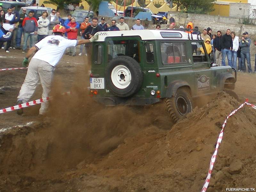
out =
<path fill-rule="evenodd" d="M 241 109 L 242 107 L 244 107 L 245 104 L 247 104 L 247 105 L 251 106 L 252 108 L 256 109 L 256 106 L 254 106 L 254 105 L 248 103 L 248 99 L 246 99 L 246 101 L 245 101 L 242 105 L 240 105 L 240 107 L 238 107 L 236 110 L 232 111 L 232 112 L 229 114 L 229 116 L 226 117 L 226 119 L 225 119 L 225 121 L 224 121 L 224 123 L 223 123 L 223 125 L 222 125 L 222 129 L 221 129 L 221 131 L 220 131 L 220 134 L 219 134 L 219 137 L 218 137 L 218 140 L 217 140 L 217 144 L 216 144 L 216 147 L 215 147 L 215 151 L 214 151 L 214 153 L 213 153 L 213 155 L 212 155 L 212 158 L 211 158 L 211 161 L 210 161 L 210 168 L 209 168 L 209 171 L 208 171 L 208 175 L 207 175 L 207 177 L 206 177 L 206 179 L 205 179 L 204 186 L 203 186 L 201 192 L 205 192 L 205 191 L 207 190 L 207 187 L 208 187 L 209 183 L 210 183 L 210 178 L 211 178 L 211 174 L 212 174 L 213 165 L 214 165 L 215 160 L 216 160 L 216 157 L 217 157 L 218 148 L 220 147 L 220 143 L 221 143 L 222 138 L 223 138 L 224 127 L 225 127 L 225 125 L 226 125 L 226 123 L 227 123 L 227 119 L 228 119 L 229 117 L 231 117 L 232 115 L 234 115 L 239 109 Z"/>

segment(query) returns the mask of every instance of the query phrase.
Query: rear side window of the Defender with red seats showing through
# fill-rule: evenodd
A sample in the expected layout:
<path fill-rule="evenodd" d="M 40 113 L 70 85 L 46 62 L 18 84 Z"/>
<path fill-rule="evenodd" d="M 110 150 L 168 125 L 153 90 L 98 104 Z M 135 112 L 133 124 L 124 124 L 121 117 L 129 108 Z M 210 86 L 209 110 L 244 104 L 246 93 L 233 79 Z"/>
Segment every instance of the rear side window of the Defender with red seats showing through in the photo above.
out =
<path fill-rule="evenodd" d="M 161 56 L 164 65 L 187 63 L 185 43 L 161 43 Z"/>

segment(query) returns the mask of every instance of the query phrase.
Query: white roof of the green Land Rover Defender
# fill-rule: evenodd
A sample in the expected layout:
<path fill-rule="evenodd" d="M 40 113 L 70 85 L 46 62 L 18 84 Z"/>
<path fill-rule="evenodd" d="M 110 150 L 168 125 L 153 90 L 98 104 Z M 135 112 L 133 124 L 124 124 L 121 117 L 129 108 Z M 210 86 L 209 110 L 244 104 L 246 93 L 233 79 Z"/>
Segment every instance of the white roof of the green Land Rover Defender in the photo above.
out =
<path fill-rule="evenodd" d="M 127 30 L 127 31 L 101 31 L 97 32 L 96 34 L 99 35 L 99 39 L 97 41 L 105 41 L 106 37 L 121 37 L 121 36 L 140 36 L 141 40 L 191 40 L 191 35 L 189 34 L 189 39 L 188 39 L 188 33 L 184 31 L 179 31 L 179 30 Z M 181 38 L 164 38 L 162 35 L 175 35 L 178 34 L 179 36 L 181 35 Z M 197 40 L 197 35 L 193 34 L 192 35 L 193 40 Z M 203 39 L 203 38 L 202 38 Z M 199 36 L 200 40 L 200 36 Z"/>

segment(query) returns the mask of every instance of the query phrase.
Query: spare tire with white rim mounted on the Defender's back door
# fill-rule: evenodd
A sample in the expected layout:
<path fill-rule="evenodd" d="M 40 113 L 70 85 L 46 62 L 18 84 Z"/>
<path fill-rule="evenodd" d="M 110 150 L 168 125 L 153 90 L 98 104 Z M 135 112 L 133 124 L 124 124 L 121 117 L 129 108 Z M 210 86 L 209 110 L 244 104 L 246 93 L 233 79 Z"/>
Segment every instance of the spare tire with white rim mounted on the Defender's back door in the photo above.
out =
<path fill-rule="evenodd" d="M 139 63 L 128 56 L 111 60 L 106 67 L 105 77 L 109 89 L 118 97 L 129 97 L 138 92 L 143 81 Z"/>

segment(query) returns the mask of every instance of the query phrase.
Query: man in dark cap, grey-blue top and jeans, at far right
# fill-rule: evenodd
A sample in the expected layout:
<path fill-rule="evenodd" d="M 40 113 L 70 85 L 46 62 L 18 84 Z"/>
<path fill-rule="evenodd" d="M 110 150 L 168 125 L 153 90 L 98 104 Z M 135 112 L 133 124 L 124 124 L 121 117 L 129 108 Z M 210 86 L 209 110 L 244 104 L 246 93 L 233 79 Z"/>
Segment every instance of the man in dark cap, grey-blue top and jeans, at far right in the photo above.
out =
<path fill-rule="evenodd" d="M 241 60 L 242 60 L 242 70 L 246 72 L 245 59 L 247 61 L 248 73 L 252 73 L 251 66 L 251 55 L 250 55 L 250 45 L 252 40 L 248 38 L 248 32 L 243 33 L 243 37 L 240 40 L 239 47 L 241 47 Z"/>

